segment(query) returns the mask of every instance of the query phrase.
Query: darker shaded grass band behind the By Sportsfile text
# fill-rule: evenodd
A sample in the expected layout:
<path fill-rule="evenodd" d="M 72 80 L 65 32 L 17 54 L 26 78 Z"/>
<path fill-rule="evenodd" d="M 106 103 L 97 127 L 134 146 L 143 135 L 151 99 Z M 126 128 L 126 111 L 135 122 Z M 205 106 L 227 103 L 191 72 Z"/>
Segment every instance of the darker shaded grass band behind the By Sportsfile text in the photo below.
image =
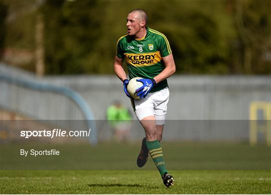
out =
<path fill-rule="evenodd" d="M 271 147 L 234 143 L 162 142 L 170 170 L 271 170 Z M 1 144 L 2 170 L 138 170 L 141 142 Z M 21 156 L 20 149 L 58 149 L 59 156 Z M 143 170 L 155 170 L 148 160 Z"/>

